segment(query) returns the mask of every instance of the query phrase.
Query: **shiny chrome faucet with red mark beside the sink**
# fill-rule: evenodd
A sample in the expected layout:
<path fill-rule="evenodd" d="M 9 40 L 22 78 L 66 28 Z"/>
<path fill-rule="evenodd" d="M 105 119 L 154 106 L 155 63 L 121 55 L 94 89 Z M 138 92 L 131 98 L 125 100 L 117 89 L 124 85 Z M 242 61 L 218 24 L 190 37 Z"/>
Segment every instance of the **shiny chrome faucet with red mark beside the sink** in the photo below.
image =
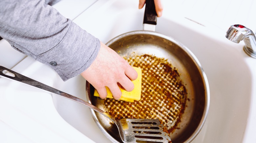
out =
<path fill-rule="evenodd" d="M 227 30 L 226 38 L 235 43 L 244 40 L 244 51 L 247 55 L 256 58 L 256 38 L 252 30 L 243 25 L 236 24 Z"/>

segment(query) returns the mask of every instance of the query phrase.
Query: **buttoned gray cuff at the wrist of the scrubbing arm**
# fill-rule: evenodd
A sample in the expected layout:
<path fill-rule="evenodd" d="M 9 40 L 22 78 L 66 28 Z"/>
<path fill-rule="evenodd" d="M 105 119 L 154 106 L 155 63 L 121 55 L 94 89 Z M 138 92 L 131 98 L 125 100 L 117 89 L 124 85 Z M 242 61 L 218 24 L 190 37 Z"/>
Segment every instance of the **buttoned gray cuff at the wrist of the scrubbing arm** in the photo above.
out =
<path fill-rule="evenodd" d="M 61 42 L 36 60 L 52 67 L 66 81 L 85 71 L 99 49 L 100 41 L 72 22 Z"/>

